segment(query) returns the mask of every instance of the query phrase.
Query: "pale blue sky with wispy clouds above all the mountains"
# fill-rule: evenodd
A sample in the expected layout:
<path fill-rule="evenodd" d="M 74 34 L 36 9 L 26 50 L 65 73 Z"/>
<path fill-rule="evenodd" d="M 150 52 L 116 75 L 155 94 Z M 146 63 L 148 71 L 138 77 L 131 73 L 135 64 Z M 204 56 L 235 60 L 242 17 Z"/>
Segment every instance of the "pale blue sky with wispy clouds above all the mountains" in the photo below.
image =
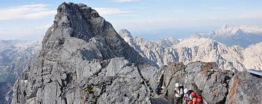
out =
<path fill-rule="evenodd" d="M 223 24 L 261 25 L 261 0 L 68 0 L 86 3 L 113 24 L 148 40 L 206 33 Z M 62 0 L 1 0 L 0 40 L 38 40 Z"/>

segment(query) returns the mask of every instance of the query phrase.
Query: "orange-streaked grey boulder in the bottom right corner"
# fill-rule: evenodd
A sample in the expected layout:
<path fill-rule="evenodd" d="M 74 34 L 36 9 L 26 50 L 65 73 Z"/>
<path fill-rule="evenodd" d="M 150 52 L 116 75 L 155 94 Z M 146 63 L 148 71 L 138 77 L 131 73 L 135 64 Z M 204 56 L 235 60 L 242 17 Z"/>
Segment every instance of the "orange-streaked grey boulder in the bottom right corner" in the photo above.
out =
<path fill-rule="evenodd" d="M 229 83 L 229 96 L 226 103 L 261 103 L 262 78 L 247 73 L 238 72 Z"/>

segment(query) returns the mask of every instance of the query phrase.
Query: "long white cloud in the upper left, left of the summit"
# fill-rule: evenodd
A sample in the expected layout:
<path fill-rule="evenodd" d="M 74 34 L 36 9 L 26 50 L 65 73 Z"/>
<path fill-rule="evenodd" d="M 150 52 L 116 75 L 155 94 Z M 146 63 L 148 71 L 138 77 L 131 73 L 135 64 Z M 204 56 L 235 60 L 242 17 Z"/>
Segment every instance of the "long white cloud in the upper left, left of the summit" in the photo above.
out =
<path fill-rule="evenodd" d="M 56 10 L 47 8 L 49 4 L 37 3 L 24 6 L 0 8 L 0 20 L 8 19 L 40 19 L 56 14 Z"/>

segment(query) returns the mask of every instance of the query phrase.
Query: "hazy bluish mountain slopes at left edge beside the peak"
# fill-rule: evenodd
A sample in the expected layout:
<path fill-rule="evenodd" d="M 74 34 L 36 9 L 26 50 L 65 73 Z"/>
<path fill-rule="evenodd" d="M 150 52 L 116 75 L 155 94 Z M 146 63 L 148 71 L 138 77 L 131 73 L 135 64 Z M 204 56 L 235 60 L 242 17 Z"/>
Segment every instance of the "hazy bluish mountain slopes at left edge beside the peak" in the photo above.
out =
<path fill-rule="evenodd" d="M 37 41 L 0 40 L 0 103 L 10 102 L 13 83 L 29 67 L 39 49 Z"/>

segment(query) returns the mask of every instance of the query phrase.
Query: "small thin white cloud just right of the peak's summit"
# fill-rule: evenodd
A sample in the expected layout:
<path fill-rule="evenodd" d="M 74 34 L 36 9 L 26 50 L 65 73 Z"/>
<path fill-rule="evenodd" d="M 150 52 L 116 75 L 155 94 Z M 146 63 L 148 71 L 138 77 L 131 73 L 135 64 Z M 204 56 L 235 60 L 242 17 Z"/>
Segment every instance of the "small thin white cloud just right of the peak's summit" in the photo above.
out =
<path fill-rule="evenodd" d="M 129 14 L 132 11 L 125 11 L 119 8 L 95 8 L 100 15 L 120 15 L 120 14 Z"/>

